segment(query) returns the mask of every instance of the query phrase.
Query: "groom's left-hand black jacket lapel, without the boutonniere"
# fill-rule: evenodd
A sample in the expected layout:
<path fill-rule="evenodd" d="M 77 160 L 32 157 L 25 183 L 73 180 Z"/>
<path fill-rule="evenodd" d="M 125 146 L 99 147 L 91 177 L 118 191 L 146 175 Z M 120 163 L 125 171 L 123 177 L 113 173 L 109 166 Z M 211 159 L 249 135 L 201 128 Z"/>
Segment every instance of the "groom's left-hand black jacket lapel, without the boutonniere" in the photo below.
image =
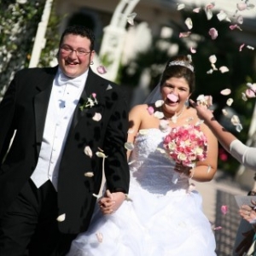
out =
<path fill-rule="evenodd" d="M 47 68 L 46 72 L 38 78 L 37 90 L 38 94 L 34 98 L 35 108 L 35 123 L 36 123 L 36 142 L 38 153 L 41 147 L 41 142 L 44 133 L 44 123 L 47 114 L 47 108 L 49 104 L 49 96 L 52 89 L 53 80 L 55 79 L 55 73 L 57 67 Z"/>

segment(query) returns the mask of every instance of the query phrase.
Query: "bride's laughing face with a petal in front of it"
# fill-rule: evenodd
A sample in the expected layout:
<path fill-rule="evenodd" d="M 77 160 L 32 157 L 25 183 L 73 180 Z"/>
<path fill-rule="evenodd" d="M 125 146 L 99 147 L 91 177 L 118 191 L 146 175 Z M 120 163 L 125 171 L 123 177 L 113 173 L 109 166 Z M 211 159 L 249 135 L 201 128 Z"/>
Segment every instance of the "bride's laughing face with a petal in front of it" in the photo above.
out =
<path fill-rule="evenodd" d="M 161 86 L 162 106 L 167 113 L 179 113 L 190 96 L 189 84 L 184 78 L 167 79 Z"/>

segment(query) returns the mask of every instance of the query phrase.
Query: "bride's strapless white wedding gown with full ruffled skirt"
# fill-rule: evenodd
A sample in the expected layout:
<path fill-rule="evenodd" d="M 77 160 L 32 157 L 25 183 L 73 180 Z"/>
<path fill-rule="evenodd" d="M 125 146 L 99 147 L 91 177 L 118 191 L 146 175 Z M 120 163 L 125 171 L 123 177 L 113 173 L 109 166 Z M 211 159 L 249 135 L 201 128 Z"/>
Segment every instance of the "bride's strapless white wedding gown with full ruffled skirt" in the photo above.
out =
<path fill-rule="evenodd" d="M 105 216 L 96 205 L 89 230 L 73 241 L 68 256 L 216 256 L 201 195 L 189 192 L 188 177 L 172 183 L 172 160 L 158 150 L 166 133 L 146 131 L 131 154 L 132 201 Z"/>

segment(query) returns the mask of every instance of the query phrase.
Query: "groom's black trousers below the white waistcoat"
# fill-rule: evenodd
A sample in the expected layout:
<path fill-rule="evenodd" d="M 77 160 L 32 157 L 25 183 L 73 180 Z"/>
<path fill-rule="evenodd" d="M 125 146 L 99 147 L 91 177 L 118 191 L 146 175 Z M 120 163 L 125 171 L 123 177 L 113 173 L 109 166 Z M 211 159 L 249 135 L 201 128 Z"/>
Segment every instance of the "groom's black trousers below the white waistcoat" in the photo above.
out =
<path fill-rule="evenodd" d="M 65 255 L 75 236 L 59 232 L 57 214 L 52 183 L 38 189 L 30 179 L 0 218 L 0 256 Z"/>

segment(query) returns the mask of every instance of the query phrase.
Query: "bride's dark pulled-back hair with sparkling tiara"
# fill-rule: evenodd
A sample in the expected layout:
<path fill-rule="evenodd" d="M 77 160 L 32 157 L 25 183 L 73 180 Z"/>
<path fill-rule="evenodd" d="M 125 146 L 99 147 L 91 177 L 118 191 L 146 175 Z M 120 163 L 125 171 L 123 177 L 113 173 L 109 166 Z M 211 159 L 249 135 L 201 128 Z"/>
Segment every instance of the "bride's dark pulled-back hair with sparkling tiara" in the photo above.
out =
<path fill-rule="evenodd" d="M 189 84 L 189 91 L 195 90 L 195 73 L 193 63 L 186 55 L 172 57 L 166 64 L 166 68 L 160 79 L 160 86 L 165 84 L 167 79 L 184 78 Z"/>

